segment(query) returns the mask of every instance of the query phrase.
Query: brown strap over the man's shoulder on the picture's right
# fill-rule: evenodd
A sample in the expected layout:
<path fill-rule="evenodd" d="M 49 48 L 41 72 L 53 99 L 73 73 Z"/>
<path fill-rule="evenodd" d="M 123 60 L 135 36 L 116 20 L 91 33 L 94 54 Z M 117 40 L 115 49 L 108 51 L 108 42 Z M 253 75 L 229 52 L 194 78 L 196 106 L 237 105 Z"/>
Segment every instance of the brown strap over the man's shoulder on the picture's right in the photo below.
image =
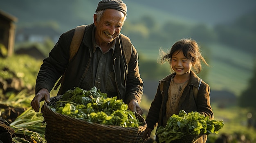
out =
<path fill-rule="evenodd" d="M 126 61 L 128 64 L 130 62 L 130 58 L 132 55 L 132 43 L 131 43 L 129 37 L 127 37 L 121 33 L 120 33 L 120 37 L 121 37 L 121 44 L 123 45 L 123 47 L 122 47 L 123 53 L 126 57 Z"/>

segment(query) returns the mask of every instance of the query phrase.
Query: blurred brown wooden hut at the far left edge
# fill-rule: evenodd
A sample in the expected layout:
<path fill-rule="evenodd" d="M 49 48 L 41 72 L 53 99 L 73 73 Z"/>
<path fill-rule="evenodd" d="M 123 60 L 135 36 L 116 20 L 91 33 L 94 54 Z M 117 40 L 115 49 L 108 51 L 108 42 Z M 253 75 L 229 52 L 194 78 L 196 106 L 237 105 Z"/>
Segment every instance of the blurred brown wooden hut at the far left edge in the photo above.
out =
<path fill-rule="evenodd" d="M 11 56 L 14 51 L 15 30 L 18 19 L 0 10 L 0 44 L 7 48 L 7 56 Z"/>

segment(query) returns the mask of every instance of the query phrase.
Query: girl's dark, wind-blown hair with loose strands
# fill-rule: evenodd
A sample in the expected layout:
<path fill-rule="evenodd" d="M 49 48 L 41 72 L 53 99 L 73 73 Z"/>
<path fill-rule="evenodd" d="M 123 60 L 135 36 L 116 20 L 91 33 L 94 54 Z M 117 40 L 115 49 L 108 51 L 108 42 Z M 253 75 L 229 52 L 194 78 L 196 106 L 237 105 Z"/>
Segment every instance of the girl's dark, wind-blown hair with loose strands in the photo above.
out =
<path fill-rule="evenodd" d="M 165 53 L 162 49 L 160 49 L 160 56 L 162 57 L 160 63 L 164 64 L 165 61 L 168 61 L 171 64 L 172 56 L 180 51 L 183 52 L 187 59 L 191 59 L 193 63 L 192 70 L 195 73 L 200 73 L 202 70 L 201 62 L 204 62 L 204 64 L 209 66 L 204 57 L 201 55 L 200 47 L 198 46 L 197 42 L 191 38 L 177 41 L 175 44 L 173 44 L 169 53 Z"/>

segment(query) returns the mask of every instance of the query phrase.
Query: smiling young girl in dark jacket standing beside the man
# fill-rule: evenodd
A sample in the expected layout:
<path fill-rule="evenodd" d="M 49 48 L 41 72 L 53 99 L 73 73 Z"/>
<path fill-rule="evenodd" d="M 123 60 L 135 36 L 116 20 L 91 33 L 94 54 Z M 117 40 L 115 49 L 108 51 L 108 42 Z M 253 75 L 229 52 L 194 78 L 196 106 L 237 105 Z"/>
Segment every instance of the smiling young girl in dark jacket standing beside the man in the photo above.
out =
<path fill-rule="evenodd" d="M 210 87 L 195 74 L 202 69 L 201 61 L 209 66 L 198 44 L 191 39 L 177 41 L 171 51 L 162 57 L 161 63 L 165 61 L 170 63 L 174 73 L 159 81 L 155 99 L 146 117 L 144 139 L 150 136 L 156 125 L 165 127 L 167 120 L 173 114 L 179 114 L 181 109 L 187 113 L 197 111 L 213 118 Z M 205 143 L 206 140 L 207 136 L 203 135 L 196 143 Z M 158 143 L 157 136 L 156 141 Z"/>

